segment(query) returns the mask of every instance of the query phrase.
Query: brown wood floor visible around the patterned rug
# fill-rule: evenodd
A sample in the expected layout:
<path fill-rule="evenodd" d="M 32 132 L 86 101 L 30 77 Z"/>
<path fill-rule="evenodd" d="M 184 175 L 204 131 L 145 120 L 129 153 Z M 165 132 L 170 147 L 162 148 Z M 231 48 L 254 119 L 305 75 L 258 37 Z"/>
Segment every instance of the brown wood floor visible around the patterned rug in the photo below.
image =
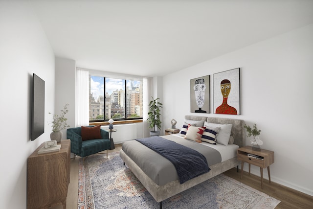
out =
<path fill-rule="evenodd" d="M 109 153 L 119 152 L 121 144 L 115 144 L 115 149 L 109 150 Z M 103 152 L 105 153 L 105 152 Z M 78 161 L 80 157 L 71 159 L 70 167 L 70 183 L 67 192 L 67 209 L 77 209 L 77 197 L 78 197 Z M 230 169 L 224 172 L 225 175 L 240 181 L 248 186 L 258 189 L 281 202 L 276 209 L 313 209 L 313 196 L 304 194 L 302 192 L 293 190 L 286 186 L 276 184 L 274 182 L 268 183 L 268 180 L 263 180 L 263 189 L 261 188 L 260 177 L 248 172 L 243 173 L 243 179 L 240 180 L 239 173 L 236 172 L 236 168 Z M 62 205 L 54 206 L 51 209 L 62 209 Z"/>

